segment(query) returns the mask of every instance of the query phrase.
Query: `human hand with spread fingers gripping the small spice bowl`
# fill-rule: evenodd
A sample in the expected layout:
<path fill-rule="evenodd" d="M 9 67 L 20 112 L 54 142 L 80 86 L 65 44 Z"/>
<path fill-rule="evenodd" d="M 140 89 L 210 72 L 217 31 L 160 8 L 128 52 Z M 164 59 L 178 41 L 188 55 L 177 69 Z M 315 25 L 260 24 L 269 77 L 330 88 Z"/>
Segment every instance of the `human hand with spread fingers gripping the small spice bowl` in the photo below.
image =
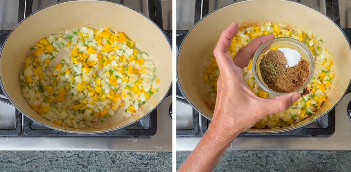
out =
<path fill-rule="evenodd" d="M 216 107 L 211 124 L 218 132 L 228 133 L 233 138 L 240 132 L 251 128 L 267 115 L 285 111 L 301 97 L 297 92 L 272 99 L 255 95 L 243 79 L 243 68 L 249 64 L 256 50 L 264 42 L 273 39 L 274 35 L 257 37 L 241 48 L 232 60 L 227 51 L 231 39 L 237 33 L 238 23 L 233 22 L 221 33 L 217 46 L 213 50 L 220 75 L 217 81 Z"/>

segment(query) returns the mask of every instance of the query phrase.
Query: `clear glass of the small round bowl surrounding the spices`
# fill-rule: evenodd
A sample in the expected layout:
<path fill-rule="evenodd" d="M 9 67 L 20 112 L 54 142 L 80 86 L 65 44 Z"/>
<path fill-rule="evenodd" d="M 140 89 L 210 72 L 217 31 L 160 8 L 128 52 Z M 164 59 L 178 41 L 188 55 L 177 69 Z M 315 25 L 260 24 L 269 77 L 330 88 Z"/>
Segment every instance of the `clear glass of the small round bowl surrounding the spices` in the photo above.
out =
<path fill-rule="evenodd" d="M 260 60 L 263 57 L 263 55 L 265 55 L 273 47 L 295 49 L 301 54 L 303 59 L 309 62 L 310 74 L 308 75 L 307 80 L 305 81 L 304 84 L 301 85 L 301 87 L 298 90 L 295 90 L 293 92 L 302 91 L 304 88 L 306 88 L 307 84 L 312 79 L 312 76 L 314 73 L 314 58 L 311 53 L 311 50 L 304 43 L 291 37 L 276 37 L 272 40 L 265 42 L 257 49 L 252 60 L 252 73 L 256 82 L 264 91 L 270 94 L 273 94 L 275 96 L 291 93 L 291 92 L 276 92 L 271 90 L 270 88 L 268 88 L 267 84 L 263 82 L 263 79 L 261 77 L 261 73 L 259 70 Z"/>

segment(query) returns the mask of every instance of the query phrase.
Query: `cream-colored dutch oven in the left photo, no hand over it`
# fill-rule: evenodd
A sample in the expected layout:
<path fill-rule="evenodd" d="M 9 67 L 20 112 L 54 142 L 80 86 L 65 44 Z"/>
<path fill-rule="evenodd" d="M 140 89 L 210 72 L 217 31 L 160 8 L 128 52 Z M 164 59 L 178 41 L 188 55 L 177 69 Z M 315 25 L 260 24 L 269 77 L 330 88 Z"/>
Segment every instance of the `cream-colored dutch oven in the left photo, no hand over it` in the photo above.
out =
<path fill-rule="evenodd" d="M 19 75 L 22 59 L 29 50 L 49 34 L 63 33 L 82 26 L 119 30 L 135 41 L 135 47 L 151 54 L 160 78 L 159 91 L 135 115 L 124 119 L 119 115 L 94 123 L 92 128 L 74 129 L 42 118 L 27 104 L 21 94 Z M 0 54 L 1 87 L 10 102 L 27 117 L 52 129 L 73 133 L 101 133 L 123 128 L 147 116 L 163 101 L 172 82 L 172 51 L 163 31 L 145 15 L 120 4 L 101 0 L 79 0 L 45 7 L 22 20 L 9 33 Z"/>

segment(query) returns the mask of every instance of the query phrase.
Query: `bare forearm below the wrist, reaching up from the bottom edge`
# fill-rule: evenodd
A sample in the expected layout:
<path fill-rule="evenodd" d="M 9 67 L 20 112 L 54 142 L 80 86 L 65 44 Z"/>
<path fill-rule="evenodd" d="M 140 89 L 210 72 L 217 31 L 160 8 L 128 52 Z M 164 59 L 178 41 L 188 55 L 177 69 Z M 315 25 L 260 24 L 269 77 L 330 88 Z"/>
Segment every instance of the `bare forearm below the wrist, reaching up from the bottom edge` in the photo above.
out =
<path fill-rule="evenodd" d="M 221 131 L 211 122 L 199 144 L 179 168 L 179 171 L 212 171 L 225 150 L 238 136 L 236 133 Z M 224 129 L 224 128 L 223 128 Z"/>

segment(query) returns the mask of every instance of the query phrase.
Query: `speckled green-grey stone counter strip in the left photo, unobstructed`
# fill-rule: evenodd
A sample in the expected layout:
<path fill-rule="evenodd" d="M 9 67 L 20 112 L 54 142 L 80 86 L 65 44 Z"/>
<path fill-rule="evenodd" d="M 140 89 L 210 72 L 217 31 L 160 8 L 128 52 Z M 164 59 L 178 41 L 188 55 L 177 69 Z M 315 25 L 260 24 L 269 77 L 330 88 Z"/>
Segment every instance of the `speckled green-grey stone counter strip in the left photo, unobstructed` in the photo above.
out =
<path fill-rule="evenodd" d="M 172 153 L 1 151 L 0 171 L 172 171 Z"/>

